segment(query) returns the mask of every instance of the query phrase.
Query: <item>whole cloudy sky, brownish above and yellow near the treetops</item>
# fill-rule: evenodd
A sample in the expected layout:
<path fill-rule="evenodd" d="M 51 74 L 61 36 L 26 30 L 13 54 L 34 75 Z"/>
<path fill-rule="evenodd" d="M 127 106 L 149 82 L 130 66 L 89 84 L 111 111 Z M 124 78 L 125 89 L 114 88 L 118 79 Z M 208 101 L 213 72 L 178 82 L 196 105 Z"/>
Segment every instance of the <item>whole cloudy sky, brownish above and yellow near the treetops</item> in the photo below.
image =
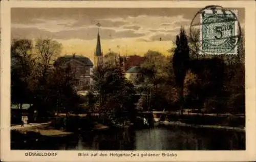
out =
<path fill-rule="evenodd" d="M 11 38 L 52 38 L 62 43 L 61 55 L 76 53 L 93 60 L 98 34 L 103 54 L 144 55 L 148 50 L 169 55 L 176 35 L 199 8 L 12 8 Z M 244 24 L 244 10 L 239 9 Z M 161 40 L 160 40 L 161 38 Z"/>

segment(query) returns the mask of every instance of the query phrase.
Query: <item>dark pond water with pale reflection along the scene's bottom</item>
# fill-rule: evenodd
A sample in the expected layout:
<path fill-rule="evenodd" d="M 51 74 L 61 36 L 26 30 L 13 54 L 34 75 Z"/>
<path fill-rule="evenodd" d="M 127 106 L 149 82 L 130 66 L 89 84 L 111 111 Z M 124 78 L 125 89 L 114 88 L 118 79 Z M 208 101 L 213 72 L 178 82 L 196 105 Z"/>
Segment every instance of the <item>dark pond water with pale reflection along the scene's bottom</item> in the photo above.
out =
<path fill-rule="evenodd" d="M 12 140 L 13 141 L 13 140 Z M 13 142 L 31 150 L 244 150 L 245 133 L 212 129 L 161 127 L 107 131 Z"/>

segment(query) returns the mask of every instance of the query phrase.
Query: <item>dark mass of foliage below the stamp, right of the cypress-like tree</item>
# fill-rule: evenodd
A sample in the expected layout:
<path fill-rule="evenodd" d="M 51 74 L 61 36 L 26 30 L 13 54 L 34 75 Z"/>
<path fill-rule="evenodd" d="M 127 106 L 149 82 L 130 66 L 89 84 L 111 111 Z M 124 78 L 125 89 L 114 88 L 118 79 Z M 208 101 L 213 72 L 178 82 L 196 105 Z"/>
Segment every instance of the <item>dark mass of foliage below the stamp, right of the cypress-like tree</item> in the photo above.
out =
<path fill-rule="evenodd" d="M 185 108 L 207 113 L 244 113 L 244 64 L 220 58 L 191 60 L 184 81 Z"/>

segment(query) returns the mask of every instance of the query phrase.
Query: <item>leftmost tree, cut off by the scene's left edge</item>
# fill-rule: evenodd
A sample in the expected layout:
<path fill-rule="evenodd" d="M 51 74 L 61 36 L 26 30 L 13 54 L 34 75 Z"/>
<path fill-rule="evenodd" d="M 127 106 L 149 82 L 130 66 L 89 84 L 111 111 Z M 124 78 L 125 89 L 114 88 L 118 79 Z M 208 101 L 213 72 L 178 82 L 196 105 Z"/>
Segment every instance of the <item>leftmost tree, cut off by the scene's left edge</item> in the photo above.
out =
<path fill-rule="evenodd" d="M 22 108 L 30 102 L 30 81 L 33 73 L 34 58 L 31 54 L 32 42 L 28 39 L 12 40 L 11 43 L 11 103 Z"/>

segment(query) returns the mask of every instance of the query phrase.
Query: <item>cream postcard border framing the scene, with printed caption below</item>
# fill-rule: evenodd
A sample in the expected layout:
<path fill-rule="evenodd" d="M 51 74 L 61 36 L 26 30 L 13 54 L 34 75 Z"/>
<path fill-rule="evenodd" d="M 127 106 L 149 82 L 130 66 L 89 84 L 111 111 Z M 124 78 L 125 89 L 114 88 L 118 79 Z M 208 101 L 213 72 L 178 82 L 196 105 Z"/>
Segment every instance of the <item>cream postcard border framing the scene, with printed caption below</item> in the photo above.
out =
<path fill-rule="evenodd" d="M 33 151 L 10 150 L 10 8 L 245 8 L 246 150 L 245 151 Z M 196 14 L 196 13 L 195 13 Z M 256 152 L 256 50 L 253 1 L 2 1 L 1 2 L 1 160 L 2 161 L 247 161 Z M 57 156 L 26 156 L 26 152 L 57 152 Z M 176 157 L 78 157 L 89 153 L 177 153 Z"/>

